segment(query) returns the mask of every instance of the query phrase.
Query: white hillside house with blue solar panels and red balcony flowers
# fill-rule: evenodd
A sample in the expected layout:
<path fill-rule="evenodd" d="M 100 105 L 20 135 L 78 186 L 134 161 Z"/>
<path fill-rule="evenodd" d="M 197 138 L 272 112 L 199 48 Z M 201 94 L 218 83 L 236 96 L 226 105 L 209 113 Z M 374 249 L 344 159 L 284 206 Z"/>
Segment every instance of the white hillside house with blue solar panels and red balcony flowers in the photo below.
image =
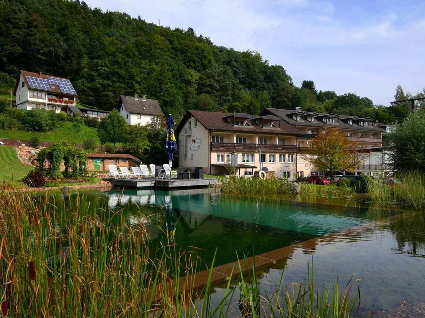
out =
<path fill-rule="evenodd" d="M 76 108 L 77 92 L 68 78 L 21 71 L 14 94 L 20 109 L 42 108 L 71 114 L 71 108 Z"/>

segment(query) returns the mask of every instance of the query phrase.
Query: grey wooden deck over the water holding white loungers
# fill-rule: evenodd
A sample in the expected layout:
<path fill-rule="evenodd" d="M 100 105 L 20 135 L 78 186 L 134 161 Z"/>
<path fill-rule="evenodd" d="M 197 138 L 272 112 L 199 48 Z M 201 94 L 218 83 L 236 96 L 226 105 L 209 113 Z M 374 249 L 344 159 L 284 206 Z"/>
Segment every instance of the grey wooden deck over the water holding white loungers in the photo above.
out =
<path fill-rule="evenodd" d="M 178 188 L 206 188 L 217 184 L 217 179 L 103 179 L 111 182 L 115 187 L 137 188 L 137 189 L 178 189 Z"/>

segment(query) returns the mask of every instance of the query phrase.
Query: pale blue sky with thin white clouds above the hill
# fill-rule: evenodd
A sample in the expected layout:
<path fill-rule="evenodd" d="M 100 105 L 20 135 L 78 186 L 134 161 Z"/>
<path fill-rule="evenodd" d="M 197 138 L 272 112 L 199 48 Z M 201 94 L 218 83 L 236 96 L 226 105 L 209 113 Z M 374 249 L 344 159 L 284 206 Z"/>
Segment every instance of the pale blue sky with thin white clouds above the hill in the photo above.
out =
<path fill-rule="evenodd" d="M 85 0 L 170 28 L 191 27 L 215 45 L 258 51 L 300 86 L 348 92 L 375 104 L 425 88 L 425 1 Z"/>

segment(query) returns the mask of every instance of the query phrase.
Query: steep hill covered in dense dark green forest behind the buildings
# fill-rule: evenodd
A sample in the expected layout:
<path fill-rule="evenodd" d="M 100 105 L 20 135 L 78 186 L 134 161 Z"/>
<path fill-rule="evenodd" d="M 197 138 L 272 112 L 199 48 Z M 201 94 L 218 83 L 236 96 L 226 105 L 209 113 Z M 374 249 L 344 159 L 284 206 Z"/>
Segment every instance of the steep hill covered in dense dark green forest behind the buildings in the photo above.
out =
<path fill-rule="evenodd" d="M 70 78 L 82 103 L 112 109 L 120 94 L 145 93 L 178 120 L 186 109 L 258 114 L 263 107 L 334 112 L 392 122 L 402 106 L 296 87 L 259 53 L 213 45 L 191 28 L 147 23 L 86 3 L 0 0 L 0 72 L 28 70 Z M 313 70 L 312 70 L 313 72 Z"/>

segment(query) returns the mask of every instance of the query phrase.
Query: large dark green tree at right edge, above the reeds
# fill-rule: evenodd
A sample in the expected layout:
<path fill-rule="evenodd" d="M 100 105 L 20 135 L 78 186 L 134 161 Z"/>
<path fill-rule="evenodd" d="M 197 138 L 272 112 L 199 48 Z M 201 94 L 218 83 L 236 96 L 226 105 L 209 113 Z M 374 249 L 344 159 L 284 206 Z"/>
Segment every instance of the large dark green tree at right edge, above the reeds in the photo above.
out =
<path fill-rule="evenodd" d="M 419 169 L 425 173 L 425 111 L 409 114 L 397 126 L 396 131 L 387 134 L 392 144 L 390 153 L 395 170 Z"/>

